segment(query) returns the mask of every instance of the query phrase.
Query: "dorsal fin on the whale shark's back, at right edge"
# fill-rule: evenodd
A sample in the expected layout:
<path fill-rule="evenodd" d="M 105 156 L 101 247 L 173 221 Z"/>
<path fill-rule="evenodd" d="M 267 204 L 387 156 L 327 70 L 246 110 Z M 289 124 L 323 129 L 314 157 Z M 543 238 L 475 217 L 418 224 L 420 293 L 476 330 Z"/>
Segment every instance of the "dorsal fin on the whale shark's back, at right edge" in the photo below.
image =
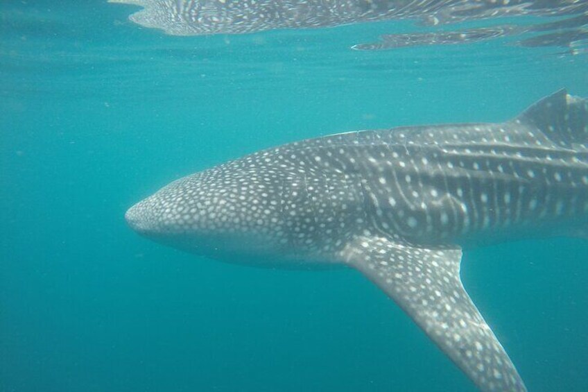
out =
<path fill-rule="evenodd" d="M 588 144 L 588 101 L 565 89 L 534 103 L 515 121 L 538 128 L 560 145 Z"/>

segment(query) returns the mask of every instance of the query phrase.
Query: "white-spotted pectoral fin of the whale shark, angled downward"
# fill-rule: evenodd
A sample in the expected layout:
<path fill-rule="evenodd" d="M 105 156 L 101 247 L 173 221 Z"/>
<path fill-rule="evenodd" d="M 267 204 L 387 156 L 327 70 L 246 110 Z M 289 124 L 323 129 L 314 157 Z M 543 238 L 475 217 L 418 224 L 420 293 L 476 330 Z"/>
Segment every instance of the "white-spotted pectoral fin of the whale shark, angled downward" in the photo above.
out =
<path fill-rule="evenodd" d="M 526 391 L 460 280 L 460 249 L 358 237 L 339 258 L 376 283 L 482 391 Z"/>

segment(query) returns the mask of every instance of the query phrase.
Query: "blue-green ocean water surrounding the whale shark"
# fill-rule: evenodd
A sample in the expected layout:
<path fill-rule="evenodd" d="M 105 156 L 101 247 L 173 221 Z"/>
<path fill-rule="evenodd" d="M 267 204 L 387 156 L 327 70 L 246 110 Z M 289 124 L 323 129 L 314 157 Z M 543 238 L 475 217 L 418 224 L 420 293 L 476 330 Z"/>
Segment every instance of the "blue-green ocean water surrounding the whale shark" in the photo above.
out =
<path fill-rule="evenodd" d="M 221 264 L 142 239 L 123 214 L 261 148 L 588 96 L 587 56 L 349 49 L 408 22 L 171 37 L 133 10 L 0 5 L 0 391 L 472 391 L 358 273 Z M 582 239 L 465 255 L 530 391 L 588 390 L 587 261 Z"/>

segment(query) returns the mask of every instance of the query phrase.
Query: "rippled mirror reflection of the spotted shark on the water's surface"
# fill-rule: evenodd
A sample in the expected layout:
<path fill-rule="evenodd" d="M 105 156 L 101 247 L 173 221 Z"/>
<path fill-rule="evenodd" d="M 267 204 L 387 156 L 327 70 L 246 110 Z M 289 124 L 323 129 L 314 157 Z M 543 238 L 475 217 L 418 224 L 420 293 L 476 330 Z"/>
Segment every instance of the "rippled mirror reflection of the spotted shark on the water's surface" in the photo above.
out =
<path fill-rule="evenodd" d="M 571 47 L 582 53 L 588 3 L 570 0 L 108 0 L 139 6 L 130 21 L 169 35 L 245 34 L 300 28 L 325 28 L 412 20 L 426 26 L 501 17 L 560 17 L 556 22 L 461 28 L 459 31 L 381 35 L 381 42 L 352 49 L 383 50 L 406 46 L 465 44 L 496 37 L 530 35 L 521 46 Z M 543 34 L 544 32 L 549 32 Z M 531 34 L 526 34 L 531 33 Z M 578 48 L 580 46 L 580 48 Z"/>

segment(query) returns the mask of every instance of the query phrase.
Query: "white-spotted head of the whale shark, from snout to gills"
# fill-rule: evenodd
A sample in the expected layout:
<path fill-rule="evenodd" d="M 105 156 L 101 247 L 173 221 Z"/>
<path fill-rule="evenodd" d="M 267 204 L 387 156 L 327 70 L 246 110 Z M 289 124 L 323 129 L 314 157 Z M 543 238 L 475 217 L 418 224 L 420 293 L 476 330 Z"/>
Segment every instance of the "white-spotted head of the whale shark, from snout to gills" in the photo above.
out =
<path fill-rule="evenodd" d="M 314 169 L 321 162 L 328 180 Z M 132 206 L 126 221 L 144 237 L 225 262 L 332 264 L 334 250 L 365 224 L 361 189 L 340 164 L 331 151 L 297 143 L 269 148 L 171 182 Z"/>

